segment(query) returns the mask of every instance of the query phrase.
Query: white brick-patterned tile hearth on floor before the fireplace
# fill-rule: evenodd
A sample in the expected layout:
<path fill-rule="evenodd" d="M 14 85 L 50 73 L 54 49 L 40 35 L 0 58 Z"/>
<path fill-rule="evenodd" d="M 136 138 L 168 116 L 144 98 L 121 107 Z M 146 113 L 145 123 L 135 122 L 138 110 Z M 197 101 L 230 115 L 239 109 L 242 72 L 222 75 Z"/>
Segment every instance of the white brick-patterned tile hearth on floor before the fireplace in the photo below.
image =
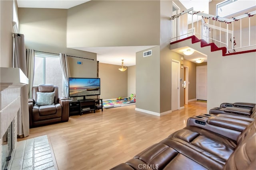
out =
<path fill-rule="evenodd" d="M 10 169 L 56 170 L 46 135 L 18 142 Z"/>

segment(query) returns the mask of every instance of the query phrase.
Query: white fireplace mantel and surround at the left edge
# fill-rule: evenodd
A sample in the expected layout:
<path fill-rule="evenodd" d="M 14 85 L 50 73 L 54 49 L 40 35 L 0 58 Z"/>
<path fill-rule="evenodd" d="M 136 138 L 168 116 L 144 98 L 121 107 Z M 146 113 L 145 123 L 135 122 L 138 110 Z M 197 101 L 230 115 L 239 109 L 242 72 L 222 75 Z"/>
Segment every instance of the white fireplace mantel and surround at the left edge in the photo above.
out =
<path fill-rule="evenodd" d="M 28 78 L 20 68 L 1 67 L 0 74 L 0 170 L 2 170 L 2 138 L 12 123 L 12 148 L 13 150 L 16 148 L 18 143 L 17 112 L 20 109 L 20 88 L 28 84 Z"/>

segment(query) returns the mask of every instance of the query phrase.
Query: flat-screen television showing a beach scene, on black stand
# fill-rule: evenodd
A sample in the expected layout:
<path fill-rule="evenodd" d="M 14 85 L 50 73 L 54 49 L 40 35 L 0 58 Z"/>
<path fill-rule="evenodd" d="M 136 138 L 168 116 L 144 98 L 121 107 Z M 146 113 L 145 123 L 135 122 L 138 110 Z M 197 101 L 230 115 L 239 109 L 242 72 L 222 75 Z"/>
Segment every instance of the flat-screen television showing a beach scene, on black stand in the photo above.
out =
<path fill-rule="evenodd" d="M 100 95 L 100 78 L 68 78 L 69 97 Z"/>

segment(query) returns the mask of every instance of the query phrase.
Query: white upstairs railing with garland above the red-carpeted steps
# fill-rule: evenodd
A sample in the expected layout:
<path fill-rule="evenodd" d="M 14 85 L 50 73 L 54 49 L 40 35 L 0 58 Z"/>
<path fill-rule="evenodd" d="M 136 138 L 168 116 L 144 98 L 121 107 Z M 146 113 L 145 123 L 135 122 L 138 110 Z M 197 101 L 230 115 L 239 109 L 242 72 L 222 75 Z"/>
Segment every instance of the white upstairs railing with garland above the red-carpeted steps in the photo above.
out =
<path fill-rule="evenodd" d="M 170 18 L 172 22 L 170 41 L 174 42 L 195 35 L 207 43 L 226 47 L 227 53 L 256 49 L 255 14 L 256 11 L 253 11 L 227 19 L 197 12 L 190 8 Z M 184 20 L 186 16 L 188 16 L 187 22 Z"/>

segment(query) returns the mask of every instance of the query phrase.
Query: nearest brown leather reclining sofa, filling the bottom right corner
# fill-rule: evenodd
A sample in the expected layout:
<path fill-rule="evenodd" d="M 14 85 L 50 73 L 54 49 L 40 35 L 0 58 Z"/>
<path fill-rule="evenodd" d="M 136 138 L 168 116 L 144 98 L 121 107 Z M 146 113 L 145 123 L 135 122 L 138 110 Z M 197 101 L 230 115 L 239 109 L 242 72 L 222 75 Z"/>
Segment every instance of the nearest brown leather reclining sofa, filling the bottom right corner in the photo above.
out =
<path fill-rule="evenodd" d="M 190 117 L 184 129 L 112 170 L 255 170 L 255 118 L 222 115 Z"/>

